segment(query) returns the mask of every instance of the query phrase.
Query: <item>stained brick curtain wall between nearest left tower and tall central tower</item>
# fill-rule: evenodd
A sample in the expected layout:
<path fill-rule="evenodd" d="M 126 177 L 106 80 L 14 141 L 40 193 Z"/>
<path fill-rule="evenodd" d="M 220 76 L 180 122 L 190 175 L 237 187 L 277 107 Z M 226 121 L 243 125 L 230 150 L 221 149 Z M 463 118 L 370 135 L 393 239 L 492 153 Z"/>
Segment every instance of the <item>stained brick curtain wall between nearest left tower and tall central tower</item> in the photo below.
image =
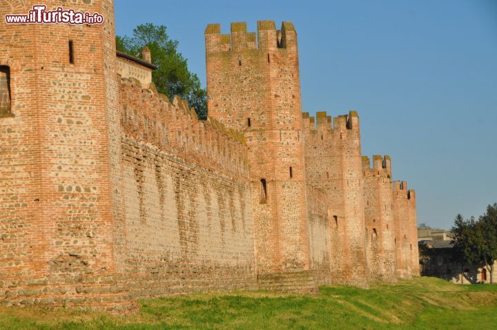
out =
<path fill-rule="evenodd" d="M 133 296 L 255 288 L 242 135 L 123 81 L 126 269 Z"/>

